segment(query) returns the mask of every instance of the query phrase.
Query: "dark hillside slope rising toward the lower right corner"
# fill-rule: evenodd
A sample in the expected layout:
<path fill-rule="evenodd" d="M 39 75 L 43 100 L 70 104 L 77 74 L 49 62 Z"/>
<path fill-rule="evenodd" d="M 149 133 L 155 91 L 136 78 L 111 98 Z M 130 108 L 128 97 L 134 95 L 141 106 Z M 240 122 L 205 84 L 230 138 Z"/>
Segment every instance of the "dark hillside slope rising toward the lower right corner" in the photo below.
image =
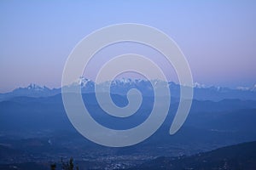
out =
<path fill-rule="evenodd" d="M 131 170 L 150 169 L 256 169 L 256 141 L 236 144 L 195 156 L 158 157 Z"/>

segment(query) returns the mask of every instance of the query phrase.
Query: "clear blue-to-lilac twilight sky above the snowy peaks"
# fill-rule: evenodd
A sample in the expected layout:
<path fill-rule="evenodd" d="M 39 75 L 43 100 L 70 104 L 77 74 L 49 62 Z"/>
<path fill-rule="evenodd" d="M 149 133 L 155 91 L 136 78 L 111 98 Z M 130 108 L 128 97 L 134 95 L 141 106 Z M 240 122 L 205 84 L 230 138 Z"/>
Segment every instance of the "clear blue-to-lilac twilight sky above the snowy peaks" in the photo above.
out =
<path fill-rule="evenodd" d="M 256 83 L 255 9 L 253 0 L 3 0 L 0 1 L 0 93 L 32 82 L 60 88 L 65 62 L 76 44 L 92 31 L 121 23 L 154 26 L 172 37 L 188 59 L 195 82 L 252 87 Z M 116 47 L 119 52 L 127 49 L 154 54 L 136 44 Z M 115 54 L 114 49 L 106 53 L 102 54 L 103 59 L 95 58 L 94 63 Z M 96 67 L 90 65 L 90 71 L 84 75 L 93 78 Z M 168 79 L 176 81 L 172 74 Z"/>

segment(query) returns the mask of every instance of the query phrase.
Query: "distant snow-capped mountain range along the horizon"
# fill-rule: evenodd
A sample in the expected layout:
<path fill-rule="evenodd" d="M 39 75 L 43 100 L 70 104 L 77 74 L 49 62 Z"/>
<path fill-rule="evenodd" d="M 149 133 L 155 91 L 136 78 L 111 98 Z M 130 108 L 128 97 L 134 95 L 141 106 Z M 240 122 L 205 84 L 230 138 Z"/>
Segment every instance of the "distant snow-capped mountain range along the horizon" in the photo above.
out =
<path fill-rule="evenodd" d="M 160 80 L 154 80 L 153 86 L 156 83 L 161 83 Z M 79 78 L 77 82 L 73 82 L 68 88 L 80 86 L 83 94 L 94 93 L 95 86 L 99 86 L 101 92 L 107 91 L 107 83 L 102 82 L 96 84 L 95 82 L 86 79 L 84 77 Z M 137 88 L 145 96 L 154 95 L 153 86 L 147 80 L 142 79 L 118 79 L 111 82 L 111 94 L 126 95 L 131 88 Z M 180 85 L 175 82 L 168 82 L 171 94 L 173 98 L 179 98 Z M 221 88 L 221 87 L 206 87 L 198 82 L 194 85 L 194 99 L 199 100 L 212 100 L 219 101 L 222 99 L 253 99 L 256 100 L 256 85 L 253 88 L 238 87 Z M 26 88 L 16 88 L 12 92 L 6 94 L 0 94 L 0 101 L 12 99 L 14 97 L 26 96 L 26 97 L 49 97 L 56 94 L 61 94 L 61 88 L 47 88 L 36 84 L 30 84 Z"/>

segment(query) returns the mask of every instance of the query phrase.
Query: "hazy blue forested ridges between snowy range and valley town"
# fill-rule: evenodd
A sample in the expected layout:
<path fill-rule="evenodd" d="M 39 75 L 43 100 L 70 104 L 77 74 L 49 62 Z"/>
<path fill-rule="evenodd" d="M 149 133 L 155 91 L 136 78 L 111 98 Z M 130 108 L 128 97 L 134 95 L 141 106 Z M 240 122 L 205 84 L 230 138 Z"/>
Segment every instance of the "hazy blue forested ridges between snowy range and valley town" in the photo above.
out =
<path fill-rule="evenodd" d="M 91 116 L 102 125 L 114 129 L 127 129 L 142 123 L 150 114 L 154 102 L 152 97 L 144 96 L 137 113 L 124 119 L 106 114 L 97 104 L 95 94 L 84 94 L 83 98 Z M 117 105 L 127 104 L 125 96 L 113 94 L 112 98 Z M 172 99 L 166 122 L 145 144 L 156 142 L 159 145 L 187 143 L 221 146 L 256 139 L 254 100 L 193 100 L 187 121 L 177 134 L 171 136 L 168 130 L 177 106 L 178 100 Z M 61 94 L 44 98 L 16 97 L 0 102 L 0 129 L 4 135 L 15 132 L 29 136 L 29 133 L 53 133 L 60 130 L 77 133 L 67 118 Z"/>

